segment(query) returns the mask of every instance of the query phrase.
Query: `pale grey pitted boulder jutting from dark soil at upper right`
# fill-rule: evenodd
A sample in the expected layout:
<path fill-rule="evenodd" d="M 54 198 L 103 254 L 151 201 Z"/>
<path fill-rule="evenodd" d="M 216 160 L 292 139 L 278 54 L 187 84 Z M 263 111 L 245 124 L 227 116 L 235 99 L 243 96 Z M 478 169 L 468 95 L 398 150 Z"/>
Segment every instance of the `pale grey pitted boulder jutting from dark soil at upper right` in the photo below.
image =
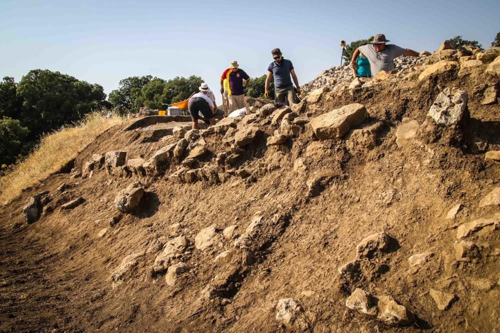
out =
<path fill-rule="evenodd" d="M 438 125 L 456 125 L 462 119 L 466 105 L 467 93 L 465 91 L 456 88 L 444 88 L 437 95 L 427 116 L 434 119 Z"/>

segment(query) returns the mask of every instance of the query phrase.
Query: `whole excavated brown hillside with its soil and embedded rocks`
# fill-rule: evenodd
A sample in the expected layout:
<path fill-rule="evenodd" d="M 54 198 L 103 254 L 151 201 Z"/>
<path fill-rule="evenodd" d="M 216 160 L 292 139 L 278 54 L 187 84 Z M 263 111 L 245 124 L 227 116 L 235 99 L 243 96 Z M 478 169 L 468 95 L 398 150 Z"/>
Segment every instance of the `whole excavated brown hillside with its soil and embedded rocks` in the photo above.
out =
<path fill-rule="evenodd" d="M 111 128 L 1 208 L 0 331 L 498 331 L 499 55 Z"/>

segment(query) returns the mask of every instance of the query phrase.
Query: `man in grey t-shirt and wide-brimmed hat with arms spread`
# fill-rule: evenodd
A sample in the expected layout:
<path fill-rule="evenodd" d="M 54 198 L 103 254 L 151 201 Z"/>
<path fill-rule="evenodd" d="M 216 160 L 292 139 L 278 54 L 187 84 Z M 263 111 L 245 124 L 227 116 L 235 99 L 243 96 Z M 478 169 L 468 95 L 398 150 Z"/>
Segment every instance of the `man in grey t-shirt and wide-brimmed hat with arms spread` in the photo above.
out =
<path fill-rule="evenodd" d="M 402 48 L 393 44 L 386 44 L 389 40 L 385 39 L 383 33 L 377 33 L 370 44 L 359 46 L 352 53 L 351 63 L 356 67 L 356 59 L 359 52 L 362 52 L 370 63 L 371 75 L 375 76 L 381 70 L 386 72 L 394 69 L 394 60 L 398 56 L 418 56 L 418 52 L 409 48 Z"/>

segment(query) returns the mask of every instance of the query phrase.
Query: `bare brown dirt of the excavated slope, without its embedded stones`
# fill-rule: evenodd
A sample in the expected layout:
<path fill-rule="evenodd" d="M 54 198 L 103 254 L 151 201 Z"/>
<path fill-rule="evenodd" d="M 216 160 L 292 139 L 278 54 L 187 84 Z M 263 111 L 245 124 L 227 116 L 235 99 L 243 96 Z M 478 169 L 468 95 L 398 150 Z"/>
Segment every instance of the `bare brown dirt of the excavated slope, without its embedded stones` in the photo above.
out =
<path fill-rule="evenodd" d="M 180 161 L 171 159 L 147 176 L 121 178 L 101 168 L 91 178 L 56 174 L 41 181 L 1 208 L 0 331 L 279 332 L 284 328 L 275 321 L 275 306 L 293 298 L 313 332 L 497 332 L 500 231 L 488 227 L 468 236 L 480 253 L 472 259 L 457 259 L 455 247 L 458 226 L 500 212 L 498 205 L 479 207 L 499 186 L 500 164 L 485 161 L 484 150 L 500 150 L 500 107 L 480 104 L 486 85 L 498 78 L 458 78 L 457 71 L 423 82 L 389 78 L 304 102 L 299 115 L 309 118 L 363 104 L 369 117 L 356 128 L 375 133 L 373 149 L 349 135 L 320 141 L 309 125 L 284 144 L 266 146 L 279 125 L 260 116 L 238 124 L 260 133 L 232 166 L 214 161 L 229 150 L 225 131 L 200 138 L 209 152 L 195 166 L 216 167 L 214 178 L 179 183 L 169 175 Z M 456 128 L 436 126 L 427 117 L 444 87 L 468 93 Z M 410 120 L 419 124 L 416 135 L 398 148 L 396 129 Z M 123 127 L 89 145 L 75 169 L 111 150 L 147 160 L 178 140 L 155 141 Z M 251 176 L 234 174 L 242 168 Z M 140 204 L 119 213 L 113 200 L 135 181 L 145 185 Z M 60 194 L 62 183 L 72 186 Z M 55 209 L 26 224 L 22 206 L 43 190 L 53 196 Z M 60 209 L 79 196 L 83 204 Z M 445 219 L 458 203 L 456 217 Z M 113 216 L 119 221 L 109 226 Z M 249 230 L 251 221 L 257 227 Z M 213 224 L 237 225 L 239 234 L 246 230 L 247 244 L 235 247 L 217 232 L 207 250 L 195 248 L 200 230 Z M 380 232 L 390 236 L 390 246 L 355 279 L 342 278 L 338 269 L 356 258 L 356 245 Z M 188 245 L 172 263 L 184 262 L 189 270 L 169 286 L 165 273 L 153 271 L 154 261 L 162 245 L 180 235 Z M 225 258 L 215 260 L 226 250 Z M 112 281 L 122 259 L 141 251 L 123 277 Z M 409 266 L 410 256 L 429 252 L 426 263 Z M 387 326 L 349 310 L 345 300 L 355 288 L 392 296 L 416 322 Z M 448 310 L 436 307 L 430 289 L 454 294 Z"/>

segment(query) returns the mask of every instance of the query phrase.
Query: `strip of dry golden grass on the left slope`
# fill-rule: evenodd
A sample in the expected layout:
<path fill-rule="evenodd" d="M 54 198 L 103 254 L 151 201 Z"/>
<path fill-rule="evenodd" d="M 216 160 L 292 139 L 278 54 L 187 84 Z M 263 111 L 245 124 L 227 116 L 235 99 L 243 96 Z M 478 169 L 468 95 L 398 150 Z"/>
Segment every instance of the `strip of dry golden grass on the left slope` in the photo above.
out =
<path fill-rule="evenodd" d="M 11 172 L 0 178 L 0 203 L 15 198 L 22 189 L 36 184 L 83 150 L 99 134 L 119 124 L 119 116 L 105 117 L 99 112 L 88 114 L 83 121 L 45 135 L 39 145 Z"/>

